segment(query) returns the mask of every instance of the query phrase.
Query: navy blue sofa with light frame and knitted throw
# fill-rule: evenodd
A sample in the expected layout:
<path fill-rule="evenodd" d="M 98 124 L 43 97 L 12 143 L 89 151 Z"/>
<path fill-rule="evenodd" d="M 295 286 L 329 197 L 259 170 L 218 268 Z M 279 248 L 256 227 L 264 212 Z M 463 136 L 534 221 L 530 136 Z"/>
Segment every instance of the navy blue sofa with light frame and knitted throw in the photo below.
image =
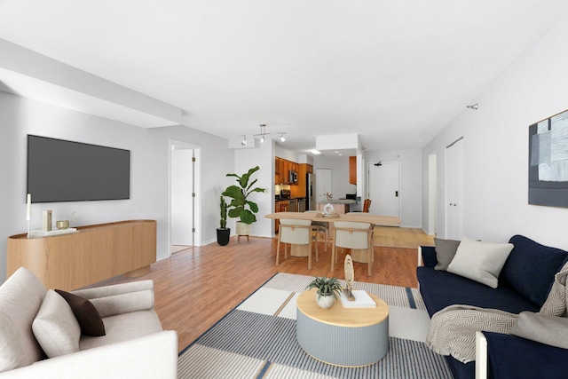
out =
<path fill-rule="evenodd" d="M 421 247 L 422 266 L 416 275 L 430 317 L 452 304 L 475 305 L 506 312 L 539 312 L 547 299 L 556 272 L 568 261 L 568 252 L 549 248 L 522 235 L 501 270 L 499 285 L 490 288 L 451 272 L 434 270 L 436 249 Z M 567 378 L 568 350 L 517 336 L 486 333 L 489 378 Z M 461 363 L 445 357 L 456 379 L 473 379 L 475 362 Z M 548 370 L 548 371 L 547 371 Z"/>

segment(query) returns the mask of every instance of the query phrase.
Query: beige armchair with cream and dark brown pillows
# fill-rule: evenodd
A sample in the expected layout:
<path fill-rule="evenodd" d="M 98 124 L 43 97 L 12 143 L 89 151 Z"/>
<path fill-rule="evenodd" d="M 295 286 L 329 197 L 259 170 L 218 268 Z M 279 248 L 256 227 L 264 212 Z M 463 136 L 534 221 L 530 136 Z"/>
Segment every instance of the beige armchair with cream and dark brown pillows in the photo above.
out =
<path fill-rule="evenodd" d="M 0 379 L 177 378 L 177 333 L 162 330 L 152 280 L 74 294 L 91 299 L 105 336 L 86 336 L 76 310 L 24 267 L 0 286 Z"/>

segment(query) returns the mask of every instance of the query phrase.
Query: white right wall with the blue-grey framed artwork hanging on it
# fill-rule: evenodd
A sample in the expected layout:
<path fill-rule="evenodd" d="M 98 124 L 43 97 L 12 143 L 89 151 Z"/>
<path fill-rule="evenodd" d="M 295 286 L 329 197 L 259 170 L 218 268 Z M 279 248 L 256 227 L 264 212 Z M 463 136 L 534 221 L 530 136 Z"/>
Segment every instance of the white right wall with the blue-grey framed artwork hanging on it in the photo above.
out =
<path fill-rule="evenodd" d="M 422 222 L 428 230 L 428 155 L 438 162 L 438 235 L 444 237 L 446 146 L 463 136 L 464 233 L 484 241 L 516 234 L 561 249 L 568 209 L 528 204 L 528 126 L 568 108 L 568 15 L 498 77 L 422 150 Z"/>

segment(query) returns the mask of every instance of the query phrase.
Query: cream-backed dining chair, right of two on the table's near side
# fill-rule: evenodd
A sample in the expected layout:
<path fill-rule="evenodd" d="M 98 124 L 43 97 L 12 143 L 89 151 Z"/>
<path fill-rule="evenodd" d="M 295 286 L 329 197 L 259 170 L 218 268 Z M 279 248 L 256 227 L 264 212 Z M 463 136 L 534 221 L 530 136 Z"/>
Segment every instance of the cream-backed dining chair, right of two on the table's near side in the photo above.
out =
<path fill-rule="evenodd" d="M 331 271 L 337 263 L 337 249 L 367 249 L 368 274 L 373 274 L 373 231 L 374 225 L 355 221 L 335 221 L 334 246 L 331 251 Z"/>

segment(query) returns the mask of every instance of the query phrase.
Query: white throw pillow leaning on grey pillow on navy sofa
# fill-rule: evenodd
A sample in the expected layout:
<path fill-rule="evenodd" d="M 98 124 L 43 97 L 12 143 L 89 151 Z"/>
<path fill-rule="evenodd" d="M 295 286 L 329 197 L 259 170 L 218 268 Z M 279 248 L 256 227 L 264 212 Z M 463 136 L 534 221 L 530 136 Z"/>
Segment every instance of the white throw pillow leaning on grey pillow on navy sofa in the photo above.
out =
<path fill-rule="evenodd" d="M 463 237 L 447 271 L 497 288 L 497 279 L 512 249 L 512 243 L 481 242 Z"/>

